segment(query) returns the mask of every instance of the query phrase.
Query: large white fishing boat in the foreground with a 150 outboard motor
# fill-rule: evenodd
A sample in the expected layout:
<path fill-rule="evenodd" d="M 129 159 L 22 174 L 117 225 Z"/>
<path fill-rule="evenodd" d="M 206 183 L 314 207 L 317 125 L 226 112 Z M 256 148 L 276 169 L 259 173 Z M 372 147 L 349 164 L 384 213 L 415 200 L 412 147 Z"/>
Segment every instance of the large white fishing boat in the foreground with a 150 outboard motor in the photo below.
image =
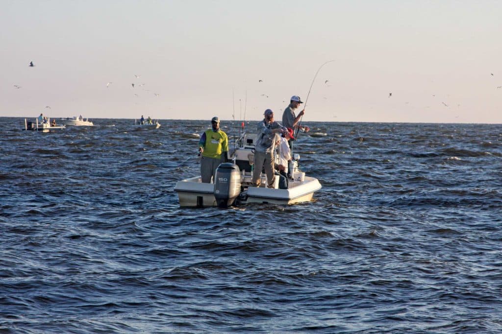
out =
<path fill-rule="evenodd" d="M 279 176 L 276 175 L 274 188 L 266 188 L 267 177 L 262 174 L 261 187 L 253 187 L 254 140 L 243 134 L 238 140 L 235 152 L 228 153 L 234 163 L 226 162 L 216 170 L 216 182 L 202 183 L 200 177 L 178 181 L 174 190 L 178 194 L 181 207 L 220 207 L 261 204 L 296 204 L 309 202 L 321 184 L 316 178 L 305 176 L 298 168 L 300 156 L 294 154 L 290 168 L 293 180 L 289 180 L 287 189 L 279 188 Z"/>

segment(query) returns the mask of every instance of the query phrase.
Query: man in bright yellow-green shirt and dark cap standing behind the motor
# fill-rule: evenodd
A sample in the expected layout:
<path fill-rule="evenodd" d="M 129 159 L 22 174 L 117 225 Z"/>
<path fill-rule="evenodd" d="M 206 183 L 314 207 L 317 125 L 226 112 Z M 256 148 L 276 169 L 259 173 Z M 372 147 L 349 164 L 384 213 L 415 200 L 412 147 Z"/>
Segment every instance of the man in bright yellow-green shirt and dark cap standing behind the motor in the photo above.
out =
<path fill-rule="evenodd" d="M 219 164 L 227 161 L 228 137 L 221 131 L 219 118 L 211 119 L 211 128 L 207 129 L 199 141 L 200 177 L 203 183 L 211 183 L 216 177 Z"/>

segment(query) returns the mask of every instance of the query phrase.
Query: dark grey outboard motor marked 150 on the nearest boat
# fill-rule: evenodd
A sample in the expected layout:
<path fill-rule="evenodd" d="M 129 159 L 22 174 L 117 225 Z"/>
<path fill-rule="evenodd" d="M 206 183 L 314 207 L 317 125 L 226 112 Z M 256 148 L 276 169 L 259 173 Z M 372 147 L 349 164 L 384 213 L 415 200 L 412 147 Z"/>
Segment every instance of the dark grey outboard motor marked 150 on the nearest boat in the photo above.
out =
<path fill-rule="evenodd" d="M 240 193 L 240 171 L 236 164 L 221 163 L 216 169 L 214 198 L 218 208 L 228 208 Z"/>

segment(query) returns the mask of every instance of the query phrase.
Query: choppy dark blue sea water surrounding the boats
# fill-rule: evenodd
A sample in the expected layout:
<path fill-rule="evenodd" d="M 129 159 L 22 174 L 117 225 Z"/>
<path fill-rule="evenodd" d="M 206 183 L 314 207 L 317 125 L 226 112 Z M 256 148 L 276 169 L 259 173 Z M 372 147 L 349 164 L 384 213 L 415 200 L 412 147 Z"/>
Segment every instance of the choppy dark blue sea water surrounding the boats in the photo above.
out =
<path fill-rule="evenodd" d="M 502 332 L 501 125 L 308 123 L 315 202 L 220 210 L 208 121 L 0 120 L 0 333 Z"/>

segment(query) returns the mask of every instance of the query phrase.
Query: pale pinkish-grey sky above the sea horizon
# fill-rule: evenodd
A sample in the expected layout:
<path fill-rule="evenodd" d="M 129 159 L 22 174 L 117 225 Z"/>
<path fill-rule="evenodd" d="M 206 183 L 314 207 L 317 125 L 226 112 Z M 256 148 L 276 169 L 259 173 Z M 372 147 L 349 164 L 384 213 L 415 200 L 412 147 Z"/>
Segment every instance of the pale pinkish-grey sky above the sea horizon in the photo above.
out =
<path fill-rule="evenodd" d="M 299 95 L 303 122 L 502 123 L 500 1 L 0 8 L 0 116 L 260 120 Z"/>

